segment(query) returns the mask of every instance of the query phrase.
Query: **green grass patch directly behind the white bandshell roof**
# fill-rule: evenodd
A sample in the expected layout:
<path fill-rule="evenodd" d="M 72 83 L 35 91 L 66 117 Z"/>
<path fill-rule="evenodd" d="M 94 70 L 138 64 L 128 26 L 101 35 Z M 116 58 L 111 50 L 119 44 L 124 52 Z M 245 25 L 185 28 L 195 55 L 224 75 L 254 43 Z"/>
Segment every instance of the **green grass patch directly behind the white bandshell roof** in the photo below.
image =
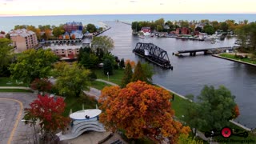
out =
<path fill-rule="evenodd" d="M 72 109 L 72 112 L 76 112 L 78 110 L 82 110 L 82 103 L 84 104 L 84 108 L 86 109 L 95 109 L 96 104 L 98 102 L 90 97 L 83 96 L 81 97 L 66 97 L 66 109 L 64 111 L 64 116 L 68 117 L 70 115 L 70 109 Z"/>

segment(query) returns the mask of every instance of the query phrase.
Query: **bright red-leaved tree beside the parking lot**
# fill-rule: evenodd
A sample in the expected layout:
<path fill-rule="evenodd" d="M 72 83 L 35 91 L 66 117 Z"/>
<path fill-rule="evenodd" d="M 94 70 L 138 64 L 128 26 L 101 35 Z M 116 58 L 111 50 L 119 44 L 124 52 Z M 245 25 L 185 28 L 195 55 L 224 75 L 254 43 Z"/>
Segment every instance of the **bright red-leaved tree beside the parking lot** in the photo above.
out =
<path fill-rule="evenodd" d="M 38 99 L 30 103 L 30 108 L 25 109 L 24 119 L 28 121 L 39 120 L 43 133 L 54 134 L 57 130 L 64 129 L 70 118 L 65 118 L 62 113 L 66 103 L 63 98 L 50 98 L 38 95 Z"/>

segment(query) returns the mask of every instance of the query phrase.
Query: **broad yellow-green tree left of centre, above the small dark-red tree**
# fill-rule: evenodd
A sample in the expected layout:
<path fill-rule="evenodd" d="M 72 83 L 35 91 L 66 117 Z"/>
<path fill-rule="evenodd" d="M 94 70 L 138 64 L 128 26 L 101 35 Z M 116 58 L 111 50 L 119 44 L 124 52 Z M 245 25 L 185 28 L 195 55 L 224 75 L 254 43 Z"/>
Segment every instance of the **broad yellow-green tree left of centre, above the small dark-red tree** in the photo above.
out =
<path fill-rule="evenodd" d="M 26 50 L 10 65 L 14 79 L 32 82 L 35 78 L 46 78 L 50 74 L 51 65 L 57 61 L 57 56 L 50 50 Z"/>

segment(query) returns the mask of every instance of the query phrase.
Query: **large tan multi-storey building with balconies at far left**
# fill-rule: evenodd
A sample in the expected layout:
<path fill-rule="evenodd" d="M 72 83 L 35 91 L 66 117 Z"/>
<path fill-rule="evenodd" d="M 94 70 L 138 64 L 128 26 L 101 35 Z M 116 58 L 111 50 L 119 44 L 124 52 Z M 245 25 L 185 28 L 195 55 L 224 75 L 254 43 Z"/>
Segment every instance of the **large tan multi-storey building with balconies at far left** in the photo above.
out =
<path fill-rule="evenodd" d="M 33 31 L 18 29 L 10 31 L 10 39 L 18 52 L 32 49 L 38 45 L 38 38 Z"/>

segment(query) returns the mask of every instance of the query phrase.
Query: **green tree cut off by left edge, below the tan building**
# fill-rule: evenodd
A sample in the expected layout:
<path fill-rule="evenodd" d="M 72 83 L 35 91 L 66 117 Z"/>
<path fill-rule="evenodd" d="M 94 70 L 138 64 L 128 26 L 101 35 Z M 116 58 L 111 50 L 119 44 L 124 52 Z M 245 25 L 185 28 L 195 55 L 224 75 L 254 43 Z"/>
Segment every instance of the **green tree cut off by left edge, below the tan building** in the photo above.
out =
<path fill-rule="evenodd" d="M 14 48 L 10 46 L 10 43 L 10 39 L 0 38 L 0 68 L 8 65 L 13 58 L 12 51 Z"/>

